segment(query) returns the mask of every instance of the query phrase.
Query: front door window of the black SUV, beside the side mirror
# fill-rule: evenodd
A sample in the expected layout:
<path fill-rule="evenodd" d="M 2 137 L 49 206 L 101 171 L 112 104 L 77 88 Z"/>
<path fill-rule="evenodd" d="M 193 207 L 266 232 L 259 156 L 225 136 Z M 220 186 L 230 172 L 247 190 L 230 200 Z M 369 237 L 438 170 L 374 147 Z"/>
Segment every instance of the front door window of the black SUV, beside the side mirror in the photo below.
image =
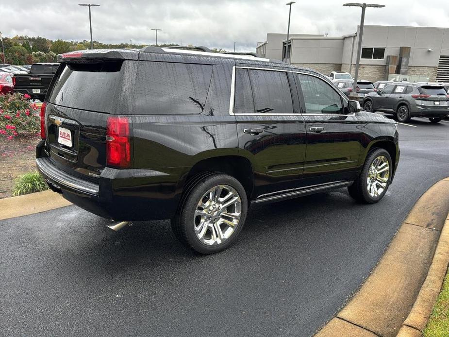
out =
<path fill-rule="evenodd" d="M 323 80 L 310 75 L 298 74 L 306 113 L 342 113 L 341 96 Z"/>

